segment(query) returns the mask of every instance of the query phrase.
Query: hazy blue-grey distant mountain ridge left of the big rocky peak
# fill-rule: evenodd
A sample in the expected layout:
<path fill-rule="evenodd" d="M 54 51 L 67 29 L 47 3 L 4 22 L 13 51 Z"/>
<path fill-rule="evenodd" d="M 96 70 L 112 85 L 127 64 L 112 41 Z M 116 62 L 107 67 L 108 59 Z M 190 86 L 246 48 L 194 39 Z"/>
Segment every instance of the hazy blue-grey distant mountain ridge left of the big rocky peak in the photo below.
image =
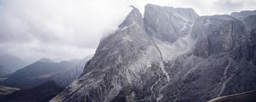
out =
<path fill-rule="evenodd" d="M 32 65 L 15 71 L 9 76 L 3 85 L 15 88 L 33 88 L 50 80 L 61 87 L 66 87 L 70 82 L 77 79 L 82 73 L 86 61 L 74 59 L 69 61 L 54 62 L 50 59 L 40 59 Z"/>

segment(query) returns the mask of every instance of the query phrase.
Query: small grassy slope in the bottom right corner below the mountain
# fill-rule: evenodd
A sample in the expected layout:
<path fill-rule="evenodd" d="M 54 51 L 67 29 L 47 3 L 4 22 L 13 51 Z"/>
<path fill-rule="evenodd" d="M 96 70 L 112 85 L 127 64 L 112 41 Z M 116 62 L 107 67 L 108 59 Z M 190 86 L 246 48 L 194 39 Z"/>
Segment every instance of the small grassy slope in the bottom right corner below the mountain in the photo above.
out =
<path fill-rule="evenodd" d="M 212 99 L 209 102 L 255 102 L 256 91 L 249 91 L 241 94 L 231 94 L 228 96 Z"/>

